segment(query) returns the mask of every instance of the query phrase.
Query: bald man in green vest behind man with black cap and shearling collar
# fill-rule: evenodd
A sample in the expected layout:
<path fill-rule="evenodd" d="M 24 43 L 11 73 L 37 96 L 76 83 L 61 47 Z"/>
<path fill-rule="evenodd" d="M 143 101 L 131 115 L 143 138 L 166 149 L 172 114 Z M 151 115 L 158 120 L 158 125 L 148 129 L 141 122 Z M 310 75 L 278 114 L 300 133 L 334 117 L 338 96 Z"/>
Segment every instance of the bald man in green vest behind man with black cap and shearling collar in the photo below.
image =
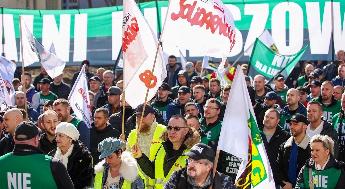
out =
<path fill-rule="evenodd" d="M 289 89 L 286 93 L 287 105 L 280 111 L 279 125 L 286 131 L 290 131 L 290 124 L 285 123 L 287 119 L 291 119 L 296 113 L 301 113 L 307 117 L 307 109 L 299 102 L 299 91 L 297 89 Z"/>

